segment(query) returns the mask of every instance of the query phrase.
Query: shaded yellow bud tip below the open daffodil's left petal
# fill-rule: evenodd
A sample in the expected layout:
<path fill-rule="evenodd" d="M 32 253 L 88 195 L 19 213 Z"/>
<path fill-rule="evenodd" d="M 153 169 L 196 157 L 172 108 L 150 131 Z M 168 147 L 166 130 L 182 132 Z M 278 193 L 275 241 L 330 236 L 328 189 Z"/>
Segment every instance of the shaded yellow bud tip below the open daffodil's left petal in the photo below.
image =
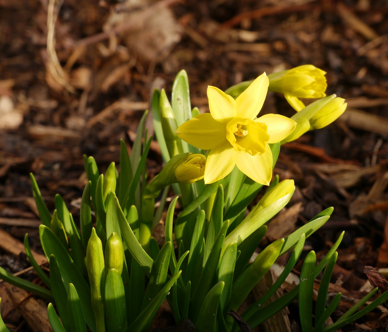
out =
<path fill-rule="evenodd" d="M 187 156 L 175 169 L 175 177 L 178 182 L 193 183 L 203 179 L 205 174 L 206 157 L 201 154 Z"/>

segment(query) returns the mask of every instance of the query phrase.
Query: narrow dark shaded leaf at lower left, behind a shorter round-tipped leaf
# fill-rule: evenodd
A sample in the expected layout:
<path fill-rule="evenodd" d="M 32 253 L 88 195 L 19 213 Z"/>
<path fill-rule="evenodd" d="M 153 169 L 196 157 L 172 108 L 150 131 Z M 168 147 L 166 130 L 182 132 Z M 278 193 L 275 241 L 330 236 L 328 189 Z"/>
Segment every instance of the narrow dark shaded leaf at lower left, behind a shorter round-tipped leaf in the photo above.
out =
<path fill-rule="evenodd" d="M 70 318 L 68 311 L 68 293 L 62 282 L 61 271 L 54 255 L 50 256 L 50 282 L 55 304 L 57 305 L 59 316 L 65 330 L 70 331 Z"/>

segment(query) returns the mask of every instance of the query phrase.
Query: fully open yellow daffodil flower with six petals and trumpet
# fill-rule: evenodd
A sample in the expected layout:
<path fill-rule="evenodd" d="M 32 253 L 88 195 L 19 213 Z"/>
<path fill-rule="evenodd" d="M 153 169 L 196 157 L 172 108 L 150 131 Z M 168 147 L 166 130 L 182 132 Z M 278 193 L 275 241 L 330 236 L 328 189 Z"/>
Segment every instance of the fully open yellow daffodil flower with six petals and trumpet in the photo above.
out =
<path fill-rule="evenodd" d="M 268 90 L 262 74 L 234 100 L 208 86 L 210 114 L 200 114 L 182 124 L 177 135 L 187 143 L 211 150 L 204 181 L 212 183 L 227 176 L 235 165 L 254 181 L 268 185 L 272 177 L 272 153 L 268 143 L 286 138 L 296 123 L 279 114 L 255 119 Z"/>

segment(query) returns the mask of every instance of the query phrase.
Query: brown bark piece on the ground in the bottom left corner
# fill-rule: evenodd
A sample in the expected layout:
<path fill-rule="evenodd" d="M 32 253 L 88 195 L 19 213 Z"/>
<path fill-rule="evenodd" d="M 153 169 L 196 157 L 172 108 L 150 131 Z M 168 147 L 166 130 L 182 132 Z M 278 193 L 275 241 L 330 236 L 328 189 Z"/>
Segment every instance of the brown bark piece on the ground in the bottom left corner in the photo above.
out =
<path fill-rule="evenodd" d="M 34 298 L 28 298 L 29 293 L 23 289 L 8 283 L 5 283 L 5 287 L 14 306 L 18 306 L 21 315 L 33 331 L 52 332 L 49 318 L 47 317 L 47 305 Z"/>

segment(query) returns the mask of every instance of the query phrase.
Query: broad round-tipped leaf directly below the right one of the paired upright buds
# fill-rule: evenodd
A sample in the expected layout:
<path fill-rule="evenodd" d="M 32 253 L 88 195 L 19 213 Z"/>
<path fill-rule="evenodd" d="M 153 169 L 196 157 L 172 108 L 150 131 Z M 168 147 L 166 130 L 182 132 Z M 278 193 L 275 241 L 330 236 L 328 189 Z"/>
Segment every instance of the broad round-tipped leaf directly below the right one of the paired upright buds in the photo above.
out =
<path fill-rule="evenodd" d="M 111 269 L 105 281 L 105 314 L 109 332 L 126 331 L 126 303 L 120 272 Z"/>

